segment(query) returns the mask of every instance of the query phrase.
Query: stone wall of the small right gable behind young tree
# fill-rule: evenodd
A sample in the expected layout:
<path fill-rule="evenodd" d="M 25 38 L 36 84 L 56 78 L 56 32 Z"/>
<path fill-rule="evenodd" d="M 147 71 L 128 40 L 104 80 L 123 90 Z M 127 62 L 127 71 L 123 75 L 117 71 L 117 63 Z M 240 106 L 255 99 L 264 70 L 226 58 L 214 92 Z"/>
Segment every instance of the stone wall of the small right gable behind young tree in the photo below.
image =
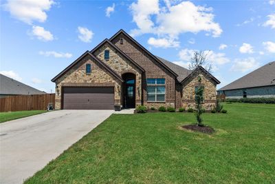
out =
<path fill-rule="evenodd" d="M 204 85 L 203 108 L 211 110 L 216 106 L 216 83 L 204 72 L 200 72 L 199 76 L 201 76 L 201 85 Z M 195 108 L 195 86 L 198 85 L 197 77 L 193 76 L 183 84 L 181 97 L 183 108 Z"/>

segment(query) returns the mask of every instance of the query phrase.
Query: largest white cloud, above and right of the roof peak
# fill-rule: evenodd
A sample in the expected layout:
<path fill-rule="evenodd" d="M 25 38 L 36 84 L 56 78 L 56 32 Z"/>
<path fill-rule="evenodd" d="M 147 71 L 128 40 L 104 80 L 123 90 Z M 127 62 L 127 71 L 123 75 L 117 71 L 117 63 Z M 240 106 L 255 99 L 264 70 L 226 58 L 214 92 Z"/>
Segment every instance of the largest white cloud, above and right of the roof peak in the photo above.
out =
<path fill-rule="evenodd" d="M 158 0 L 139 0 L 132 3 L 130 9 L 137 29 L 131 30 L 131 35 L 153 33 L 158 37 L 178 39 L 179 34 L 184 32 L 206 31 L 212 37 L 219 37 L 223 32 L 219 23 L 214 22 L 212 8 L 195 6 L 190 1 L 177 4 L 165 2 L 165 6 L 160 7 Z"/>

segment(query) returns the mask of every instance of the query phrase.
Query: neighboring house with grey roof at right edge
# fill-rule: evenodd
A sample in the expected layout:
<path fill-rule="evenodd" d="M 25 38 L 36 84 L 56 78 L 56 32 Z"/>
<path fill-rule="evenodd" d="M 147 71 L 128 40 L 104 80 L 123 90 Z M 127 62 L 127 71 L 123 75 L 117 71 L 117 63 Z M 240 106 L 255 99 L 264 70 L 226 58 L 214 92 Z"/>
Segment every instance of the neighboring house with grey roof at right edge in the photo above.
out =
<path fill-rule="evenodd" d="M 275 61 L 218 90 L 225 99 L 275 97 Z"/>

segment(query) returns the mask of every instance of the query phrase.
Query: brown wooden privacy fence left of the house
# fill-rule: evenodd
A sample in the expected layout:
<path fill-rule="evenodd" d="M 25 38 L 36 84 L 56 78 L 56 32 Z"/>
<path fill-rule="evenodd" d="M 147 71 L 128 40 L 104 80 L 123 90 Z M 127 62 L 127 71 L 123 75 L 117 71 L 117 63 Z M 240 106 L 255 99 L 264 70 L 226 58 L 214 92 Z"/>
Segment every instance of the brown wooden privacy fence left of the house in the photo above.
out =
<path fill-rule="evenodd" d="M 0 99 L 0 112 L 19 110 L 47 110 L 47 105 L 54 105 L 55 94 L 30 94 L 8 96 Z"/>

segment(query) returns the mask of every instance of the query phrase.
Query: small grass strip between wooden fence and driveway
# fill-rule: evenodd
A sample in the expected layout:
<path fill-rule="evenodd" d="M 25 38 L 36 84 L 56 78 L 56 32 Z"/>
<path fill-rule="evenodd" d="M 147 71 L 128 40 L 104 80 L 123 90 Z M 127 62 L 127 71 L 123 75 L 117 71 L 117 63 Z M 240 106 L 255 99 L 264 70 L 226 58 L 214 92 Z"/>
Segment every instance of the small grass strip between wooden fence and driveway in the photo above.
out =
<path fill-rule="evenodd" d="M 16 112 L 0 112 L 0 123 L 5 121 L 11 121 L 14 119 L 21 119 L 27 116 L 32 116 L 35 114 L 41 114 L 43 112 L 47 112 L 46 110 L 24 110 L 24 111 L 16 111 Z"/>

